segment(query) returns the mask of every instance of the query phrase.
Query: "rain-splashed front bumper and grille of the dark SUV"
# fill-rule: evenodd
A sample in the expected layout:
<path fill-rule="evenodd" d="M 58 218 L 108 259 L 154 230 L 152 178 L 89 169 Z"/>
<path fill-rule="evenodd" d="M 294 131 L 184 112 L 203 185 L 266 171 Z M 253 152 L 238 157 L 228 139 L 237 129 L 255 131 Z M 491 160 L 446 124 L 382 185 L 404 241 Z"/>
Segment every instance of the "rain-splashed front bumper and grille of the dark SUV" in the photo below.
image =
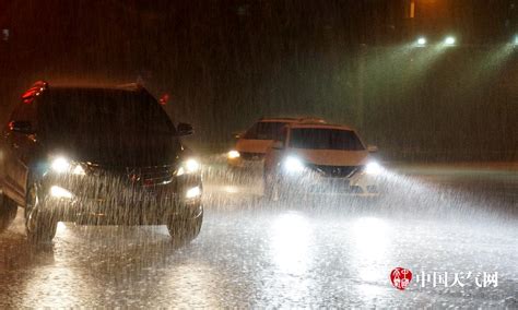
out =
<path fill-rule="evenodd" d="M 52 194 L 52 187 L 71 196 Z M 187 198 L 193 188 L 199 194 Z M 192 192 L 192 191 L 191 191 Z M 47 176 L 40 182 L 37 207 L 57 220 L 86 225 L 163 225 L 175 218 L 193 219 L 203 212 L 199 176 L 183 176 L 169 183 L 142 186 L 120 178 Z"/>

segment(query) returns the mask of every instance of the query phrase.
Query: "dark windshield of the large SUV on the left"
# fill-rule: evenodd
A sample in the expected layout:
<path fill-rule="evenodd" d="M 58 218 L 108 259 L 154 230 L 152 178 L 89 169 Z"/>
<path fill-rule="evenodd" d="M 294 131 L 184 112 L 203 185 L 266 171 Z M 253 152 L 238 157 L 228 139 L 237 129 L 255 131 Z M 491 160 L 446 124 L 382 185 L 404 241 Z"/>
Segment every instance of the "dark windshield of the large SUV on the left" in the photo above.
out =
<path fill-rule="evenodd" d="M 46 130 L 54 134 L 172 134 L 165 111 L 145 96 L 128 92 L 49 91 L 43 108 Z"/>

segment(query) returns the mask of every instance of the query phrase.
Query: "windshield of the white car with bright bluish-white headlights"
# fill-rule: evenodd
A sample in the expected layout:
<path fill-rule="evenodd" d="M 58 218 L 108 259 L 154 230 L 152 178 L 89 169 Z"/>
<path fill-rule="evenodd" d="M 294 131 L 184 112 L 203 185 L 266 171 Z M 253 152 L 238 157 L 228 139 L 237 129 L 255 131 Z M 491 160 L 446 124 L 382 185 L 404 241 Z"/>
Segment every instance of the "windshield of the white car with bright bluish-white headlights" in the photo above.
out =
<path fill-rule="evenodd" d="M 354 131 L 326 128 L 292 129 L 290 146 L 310 150 L 365 150 Z"/>

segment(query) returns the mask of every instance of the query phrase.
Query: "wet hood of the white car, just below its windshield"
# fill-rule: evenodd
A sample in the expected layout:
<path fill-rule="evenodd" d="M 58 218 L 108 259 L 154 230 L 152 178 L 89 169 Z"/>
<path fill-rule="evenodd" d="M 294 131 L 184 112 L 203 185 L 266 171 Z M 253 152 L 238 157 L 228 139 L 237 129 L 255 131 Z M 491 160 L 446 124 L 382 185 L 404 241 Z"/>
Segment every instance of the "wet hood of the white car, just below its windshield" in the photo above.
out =
<path fill-rule="evenodd" d="M 293 154 L 305 163 L 323 166 L 362 166 L 368 160 L 367 151 L 295 148 Z"/>

